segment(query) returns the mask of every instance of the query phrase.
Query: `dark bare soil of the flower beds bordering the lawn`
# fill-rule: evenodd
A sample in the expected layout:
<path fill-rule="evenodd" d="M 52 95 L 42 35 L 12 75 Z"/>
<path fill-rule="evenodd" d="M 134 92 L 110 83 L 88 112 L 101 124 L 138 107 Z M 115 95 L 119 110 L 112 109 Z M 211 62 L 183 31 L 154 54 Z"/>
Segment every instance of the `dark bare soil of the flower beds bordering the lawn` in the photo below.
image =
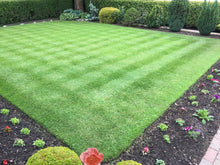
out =
<path fill-rule="evenodd" d="M 166 31 L 163 29 L 160 30 Z M 194 33 L 185 32 L 184 34 L 193 35 Z M 194 35 L 199 34 L 196 33 Z M 219 36 L 216 38 L 218 37 Z M 212 66 L 212 68 L 220 69 L 220 61 Z M 139 138 L 135 139 L 127 151 L 122 152 L 118 159 L 106 164 L 116 164 L 116 162 L 121 160 L 135 160 L 143 165 L 153 165 L 156 159 L 162 159 L 169 165 L 199 164 L 220 125 L 220 103 L 210 103 L 214 94 L 220 94 L 220 84 L 213 83 L 206 79 L 206 76 L 211 73 L 210 68 L 200 80 L 170 106 L 162 117 L 148 127 Z M 213 73 L 213 75 L 215 78 L 220 79 L 217 73 Z M 202 83 L 205 83 L 205 87 L 201 87 Z M 201 93 L 202 89 L 207 89 L 210 93 L 204 95 Z M 198 107 L 192 106 L 188 100 L 188 96 L 191 95 L 197 95 L 197 101 L 199 101 Z M 185 111 L 180 110 L 181 107 L 184 107 Z M 33 141 L 36 139 L 43 139 L 46 142 L 45 147 L 65 146 L 65 144 L 57 140 L 39 124 L 22 113 L 16 106 L 0 97 L 0 109 L 3 108 L 9 109 L 10 113 L 8 116 L 0 114 L 0 161 L 7 159 L 13 160 L 10 164 L 25 164 L 27 159 L 39 150 L 39 148 L 32 145 Z M 215 116 L 215 120 L 213 122 L 208 122 L 206 125 L 203 125 L 201 120 L 192 116 L 197 109 L 204 108 L 209 109 L 210 114 Z M 12 117 L 19 118 L 20 124 L 13 126 L 9 122 Z M 186 121 L 184 127 L 191 126 L 193 129 L 199 129 L 201 132 L 199 137 L 197 139 L 190 138 L 184 131 L 184 127 L 180 127 L 176 124 L 175 119 L 177 118 L 182 118 Z M 165 132 L 160 131 L 157 127 L 160 123 L 166 123 L 169 126 L 168 130 Z M 5 126 L 11 127 L 12 131 L 10 133 L 4 132 Z M 21 128 L 25 127 L 31 130 L 30 135 L 20 134 Z M 167 144 L 163 141 L 164 134 L 168 134 L 171 137 L 171 144 Z M 26 146 L 13 147 L 16 138 L 22 138 Z M 143 155 L 142 151 L 146 146 L 149 147 L 150 153 Z"/>

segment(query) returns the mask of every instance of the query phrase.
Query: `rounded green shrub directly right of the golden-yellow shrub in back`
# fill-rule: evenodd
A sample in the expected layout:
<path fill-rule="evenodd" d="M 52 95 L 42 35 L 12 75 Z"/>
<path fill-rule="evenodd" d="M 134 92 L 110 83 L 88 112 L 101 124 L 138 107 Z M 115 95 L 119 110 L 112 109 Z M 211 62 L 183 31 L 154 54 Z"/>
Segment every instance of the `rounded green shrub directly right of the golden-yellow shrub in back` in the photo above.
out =
<path fill-rule="evenodd" d="M 125 12 L 123 24 L 131 26 L 137 21 L 138 17 L 139 17 L 138 10 L 132 7 Z"/>

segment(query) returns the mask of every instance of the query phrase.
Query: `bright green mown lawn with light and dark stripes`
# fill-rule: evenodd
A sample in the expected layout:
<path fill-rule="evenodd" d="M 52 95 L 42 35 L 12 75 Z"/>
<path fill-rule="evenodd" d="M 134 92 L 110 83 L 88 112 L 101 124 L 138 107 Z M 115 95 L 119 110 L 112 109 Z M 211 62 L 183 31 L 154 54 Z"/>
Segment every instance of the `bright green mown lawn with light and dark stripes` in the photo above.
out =
<path fill-rule="evenodd" d="M 18 25 L 0 38 L 0 94 L 78 154 L 95 147 L 105 160 L 220 57 L 219 40 L 96 23 Z"/>

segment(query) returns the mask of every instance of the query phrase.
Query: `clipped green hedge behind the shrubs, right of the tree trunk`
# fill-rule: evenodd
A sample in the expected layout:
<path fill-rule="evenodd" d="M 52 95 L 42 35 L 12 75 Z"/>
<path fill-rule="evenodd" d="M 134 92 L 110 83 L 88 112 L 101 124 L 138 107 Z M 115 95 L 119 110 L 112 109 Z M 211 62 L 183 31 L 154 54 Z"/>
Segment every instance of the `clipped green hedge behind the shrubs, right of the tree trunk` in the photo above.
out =
<path fill-rule="evenodd" d="M 153 0 L 84 0 L 85 10 L 88 11 L 88 4 L 91 1 L 98 9 L 103 7 L 124 6 L 125 9 L 135 7 L 140 12 L 151 11 L 156 4 L 163 6 L 164 12 L 167 12 L 169 1 L 153 1 Z M 202 9 L 203 1 L 189 1 L 189 13 L 185 22 L 186 27 L 196 27 L 197 20 Z M 219 2 L 220 6 L 220 2 Z M 165 14 L 166 15 L 166 14 Z"/>

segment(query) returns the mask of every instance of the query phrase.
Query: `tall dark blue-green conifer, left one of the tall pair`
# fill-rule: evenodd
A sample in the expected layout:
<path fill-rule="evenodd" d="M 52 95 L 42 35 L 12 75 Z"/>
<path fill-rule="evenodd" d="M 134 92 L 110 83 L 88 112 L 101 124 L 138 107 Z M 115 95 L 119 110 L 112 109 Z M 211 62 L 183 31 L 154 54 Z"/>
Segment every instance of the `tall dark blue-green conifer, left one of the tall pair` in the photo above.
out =
<path fill-rule="evenodd" d="M 172 0 L 168 10 L 170 31 L 178 32 L 185 24 L 188 12 L 188 0 Z"/>

